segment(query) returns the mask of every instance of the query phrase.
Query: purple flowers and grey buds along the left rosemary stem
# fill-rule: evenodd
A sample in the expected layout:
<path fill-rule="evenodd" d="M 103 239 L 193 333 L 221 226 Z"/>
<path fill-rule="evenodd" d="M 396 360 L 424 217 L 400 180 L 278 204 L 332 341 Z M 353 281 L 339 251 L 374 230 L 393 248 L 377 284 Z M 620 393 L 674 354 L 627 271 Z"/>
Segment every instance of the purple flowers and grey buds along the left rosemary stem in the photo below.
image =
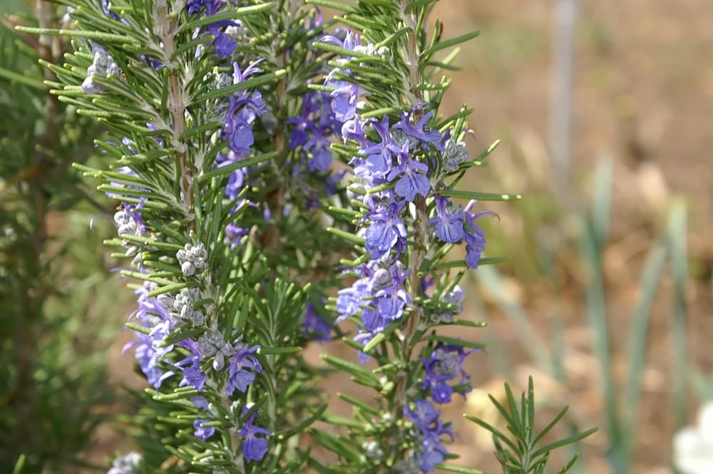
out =
<path fill-rule="evenodd" d="M 240 83 L 245 76 L 260 71 L 255 65 L 246 68 L 245 73 L 234 63 L 234 73 L 229 81 L 219 77 L 222 85 Z M 215 160 L 217 167 L 230 165 L 242 160 L 251 152 L 254 138 L 252 123 L 255 118 L 265 113 L 266 105 L 259 91 L 240 91 L 227 97 L 225 105 L 218 104 L 217 110 L 224 110 L 223 127 L 219 137 L 225 140 L 226 151 L 219 153 Z M 133 143 L 128 143 L 131 153 Z M 135 173 L 131 172 L 133 175 Z M 240 207 L 249 205 L 242 197 L 247 170 L 233 170 L 225 190 L 227 202 L 232 206 L 232 213 Z M 143 199 L 143 198 L 142 198 Z M 116 213 L 115 222 L 120 235 L 143 235 L 140 205 L 125 204 Z M 227 224 L 227 239 L 232 238 L 235 244 L 247 230 L 237 226 L 236 222 Z M 130 242 L 128 242 L 130 244 Z M 134 252 L 136 253 L 136 252 Z M 210 268 L 208 254 L 202 242 L 187 243 L 175 252 L 175 261 L 180 267 L 180 274 L 190 282 L 177 292 L 168 292 L 150 297 L 157 285 L 147 283 L 138 289 L 138 309 L 133 318 L 142 331 L 136 331 L 138 339 L 127 345 L 135 348 L 135 356 L 140 369 L 145 374 L 148 383 L 157 390 L 173 376 L 180 380 L 179 386 L 190 386 L 202 392 L 206 385 L 212 390 L 224 393 L 226 397 L 234 396 L 235 392 L 246 393 L 254 383 L 257 373 L 262 371 L 262 365 L 255 356 L 257 345 L 249 346 L 242 342 L 242 336 L 225 334 L 218 326 L 218 321 L 212 315 L 215 302 L 209 296 L 215 294 L 210 284 Z M 166 338 L 190 329 L 192 336 L 167 344 Z M 179 350 L 180 349 L 180 350 Z M 188 354 L 177 360 L 175 354 Z M 202 440 L 209 439 L 215 433 L 215 427 L 204 426 L 205 423 L 220 416 L 215 411 L 208 410 L 209 404 L 202 397 L 193 397 L 195 408 L 202 414 L 194 421 L 194 434 Z M 236 416 L 239 416 L 236 415 Z M 256 435 L 269 435 L 270 432 L 254 421 L 257 411 L 253 411 L 244 424 L 236 426 L 239 436 L 244 436 L 244 455 L 246 460 L 259 460 L 267 450 L 267 440 Z"/>

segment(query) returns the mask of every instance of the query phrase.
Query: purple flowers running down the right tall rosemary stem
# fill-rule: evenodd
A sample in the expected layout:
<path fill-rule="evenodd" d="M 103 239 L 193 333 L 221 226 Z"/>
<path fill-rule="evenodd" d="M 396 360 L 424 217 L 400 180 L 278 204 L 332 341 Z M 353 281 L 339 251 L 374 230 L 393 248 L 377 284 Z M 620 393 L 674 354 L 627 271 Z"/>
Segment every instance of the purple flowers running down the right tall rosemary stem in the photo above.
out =
<path fill-rule="evenodd" d="M 334 37 L 326 41 L 351 51 L 360 48 L 360 53 L 375 53 L 371 45 L 360 47 L 358 37 L 352 34 L 347 34 L 344 41 Z M 358 106 L 361 89 L 349 82 L 352 73 L 344 66 L 347 59 L 335 62 L 338 66 L 327 76 L 325 85 L 334 89 L 332 111 L 343 122 L 345 148 L 357 149 L 349 160 L 354 175 L 349 190 L 359 202 L 357 232 L 364 239 L 362 260 L 366 260 L 349 270 L 354 282 L 338 292 L 337 321 L 358 317 L 359 334 L 355 340 L 366 345 L 392 322 L 412 317 L 414 310 L 409 306 L 415 301 L 424 304 L 429 300 L 426 289 L 430 285 L 426 282 L 432 284 L 434 279 L 422 278 L 419 287 L 414 288 L 409 278 L 411 272 L 420 271 L 418 267 L 406 267 L 413 263 L 414 244 L 410 242 L 421 239 L 416 245 L 423 245 L 430 255 L 438 245 L 464 243 L 466 266 L 476 268 L 485 246 L 476 220 L 493 213 L 474 213 L 476 201 L 471 200 L 463 208 L 439 194 L 447 188 L 444 180 L 460 170 L 468 154 L 465 145 L 452 137 L 453 130 L 442 133 L 433 128 L 434 112 L 428 103 L 412 105 L 396 118 L 389 114 L 362 118 Z M 421 226 L 424 221 L 427 225 Z M 415 232 L 420 232 L 421 237 L 415 237 Z M 439 292 L 438 299 L 436 310 L 424 311 L 431 319 L 421 321 L 422 328 L 453 322 L 462 310 L 463 290 L 453 285 Z M 471 391 L 463 361 L 472 352 L 457 344 L 439 342 L 421 357 L 422 396 L 404 408 L 404 414 L 414 423 L 417 448 L 412 458 L 399 465 L 403 472 L 430 472 L 448 454 L 441 438 L 452 440 L 451 428 L 443 425 L 440 412 L 425 398 L 430 396 L 434 403 L 443 404 L 451 401 L 453 393 L 465 396 Z M 364 354 L 361 358 L 365 358 Z"/>

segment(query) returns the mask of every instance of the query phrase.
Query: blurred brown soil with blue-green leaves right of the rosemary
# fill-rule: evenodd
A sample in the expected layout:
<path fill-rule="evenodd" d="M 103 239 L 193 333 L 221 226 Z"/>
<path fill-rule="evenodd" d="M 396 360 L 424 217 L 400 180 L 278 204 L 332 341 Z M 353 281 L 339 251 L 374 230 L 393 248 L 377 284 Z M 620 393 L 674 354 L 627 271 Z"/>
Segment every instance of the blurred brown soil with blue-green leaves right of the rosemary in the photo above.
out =
<path fill-rule="evenodd" d="M 598 426 L 578 472 L 672 473 L 674 432 L 713 398 L 713 4 L 464 0 L 436 16 L 444 37 L 482 31 L 449 105 L 475 110 L 471 153 L 501 142 L 468 185 L 523 195 L 481 203 L 501 217 L 480 220 L 488 256 L 511 259 L 473 272 L 468 310 L 489 324 L 474 385 L 497 396 L 532 374 L 543 422 L 568 404 Z M 481 391 L 463 406 L 493 415 Z M 462 464 L 497 472 L 469 428 Z"/>

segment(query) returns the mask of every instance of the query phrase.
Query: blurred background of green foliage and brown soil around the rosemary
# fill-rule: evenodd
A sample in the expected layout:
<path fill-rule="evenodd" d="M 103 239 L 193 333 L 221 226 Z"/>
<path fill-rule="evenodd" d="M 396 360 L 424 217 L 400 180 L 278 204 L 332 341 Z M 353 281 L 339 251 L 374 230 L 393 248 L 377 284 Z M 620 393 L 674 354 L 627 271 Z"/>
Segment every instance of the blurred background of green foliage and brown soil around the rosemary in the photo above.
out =
<path fill-rule="evenodd" d="M 673 473 L 674 433 L 713 398 L 713 4 L 448 0 L 434 17 L 444 38 L 482 30 L 444 113 L 474 109 L 473 155 L 500 142 L 463 187 L 523 195 L 480 204 L 500 216 L 480 220 L 487 255 L 510 259 L 466 279 L 465 317 L 488 328 L 459 335 L 488 351 L 448 415 L 497 424 L 486 393 L 533 375 L 542 426 L 569 405 L 558 434 L 600 428 L 573 472 Z M 61 45 L 6 29 L 32 21 L 0 26 L 0 470 L 24 451 L 27 472 L 77 472 L 128 448 L 103 421 L 143 383 L 120 352 L 113 227 L 88 229 L 96 192 L 68 169 L 102 159 L 95 130 L 41 86 Z M 456 425 L 455 463 L 500 472 L 488 435 Z"/>

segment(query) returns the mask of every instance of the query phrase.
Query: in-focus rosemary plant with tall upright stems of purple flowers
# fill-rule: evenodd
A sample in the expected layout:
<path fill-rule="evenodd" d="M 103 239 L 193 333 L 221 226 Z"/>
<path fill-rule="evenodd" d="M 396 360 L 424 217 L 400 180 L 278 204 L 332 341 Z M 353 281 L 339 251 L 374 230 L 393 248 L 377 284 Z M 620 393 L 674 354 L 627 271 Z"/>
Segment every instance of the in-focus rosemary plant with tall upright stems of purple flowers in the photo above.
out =
<path fill-rule="evenodd" d="M 483 346 L 438 328 L 482 326 L 458 317 L 463 274 L 498 262 L 480 201 L 518 198 L 456 190 L 494 149 L 469 155 L 470 110 L 440 110 L 477 32 L 442 40 L 436 0 L 60 2 L 65 29 L 24 31 L 72 38 L 53 93 L 108 130 L 106 166 L 77 168 L 118 202 L 106 243 L 150 385 L 143 453 L 110 472 L 448 468 L 438 406 Z M 352 418 L 329 412 L 314 340 L 359 354 L 323 357 L 371 392 L 340 394 Z"/>

